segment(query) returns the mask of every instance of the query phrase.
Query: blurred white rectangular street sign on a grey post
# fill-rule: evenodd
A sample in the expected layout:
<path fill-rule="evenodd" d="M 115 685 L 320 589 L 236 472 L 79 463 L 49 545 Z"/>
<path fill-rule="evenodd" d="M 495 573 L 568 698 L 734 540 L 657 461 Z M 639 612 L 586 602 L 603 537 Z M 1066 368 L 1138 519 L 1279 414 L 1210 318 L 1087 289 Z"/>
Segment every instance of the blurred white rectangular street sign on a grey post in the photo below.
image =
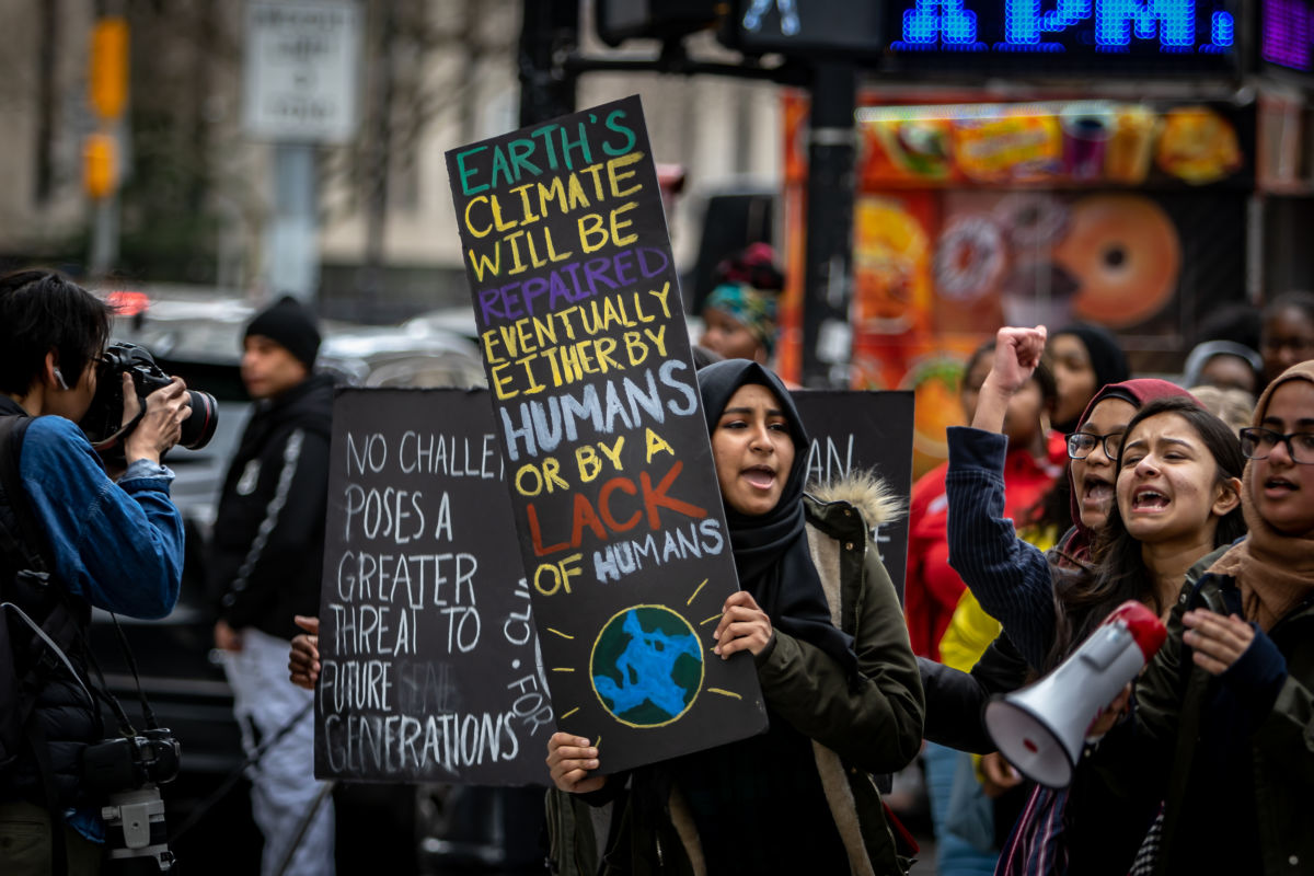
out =
<path fill-rule="evenodd" d="M 355 3 L 248 3 L 246 131 L 305 143 L 350 139 L 361 26 Z"/>

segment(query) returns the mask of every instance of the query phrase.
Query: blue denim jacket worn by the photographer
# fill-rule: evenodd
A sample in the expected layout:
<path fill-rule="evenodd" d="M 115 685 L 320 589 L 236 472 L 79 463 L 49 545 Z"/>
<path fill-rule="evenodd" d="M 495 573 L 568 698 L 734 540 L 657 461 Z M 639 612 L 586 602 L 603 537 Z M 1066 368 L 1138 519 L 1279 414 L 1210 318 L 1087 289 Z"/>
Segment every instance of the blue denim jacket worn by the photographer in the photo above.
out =
<path fill-rule="evenodd" d="M 0 405 L 0 414 L 9 412 L 17 411 Z M 173 611 L 184 554 L 183 517 L 168 494 L 171 470 L 137 460 L 116 485 L 76 424 L 38 416 L 24 436 L 18 475 L 70 592 L 131 617 Z M 99 810 L 64 817 L 88 839 L 104 842 Z"/>

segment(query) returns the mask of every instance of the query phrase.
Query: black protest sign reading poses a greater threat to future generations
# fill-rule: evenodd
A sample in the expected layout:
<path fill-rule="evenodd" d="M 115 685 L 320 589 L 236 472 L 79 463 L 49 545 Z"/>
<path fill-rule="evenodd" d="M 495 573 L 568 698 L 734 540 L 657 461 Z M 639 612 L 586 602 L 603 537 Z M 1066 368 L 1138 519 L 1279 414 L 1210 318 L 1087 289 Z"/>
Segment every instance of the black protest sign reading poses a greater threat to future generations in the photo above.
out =
<path fill-rule="evenodd" d="M 548 780 L 555 726 L 486 391 L 334 403 L 315 776 Z"/>

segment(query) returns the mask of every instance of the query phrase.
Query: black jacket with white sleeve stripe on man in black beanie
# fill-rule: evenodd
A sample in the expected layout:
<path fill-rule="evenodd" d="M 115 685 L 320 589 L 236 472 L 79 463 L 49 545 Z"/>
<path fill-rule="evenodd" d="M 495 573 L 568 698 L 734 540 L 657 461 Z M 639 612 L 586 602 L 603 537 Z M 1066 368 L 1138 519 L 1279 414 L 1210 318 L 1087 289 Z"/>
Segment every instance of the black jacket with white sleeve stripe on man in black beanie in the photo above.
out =
<path fill-rule="evenodd" d="M 223 481 L 208 570 L 219 617 L 290 640 L 319 611 L 332 381 L 259 402 Z"/>

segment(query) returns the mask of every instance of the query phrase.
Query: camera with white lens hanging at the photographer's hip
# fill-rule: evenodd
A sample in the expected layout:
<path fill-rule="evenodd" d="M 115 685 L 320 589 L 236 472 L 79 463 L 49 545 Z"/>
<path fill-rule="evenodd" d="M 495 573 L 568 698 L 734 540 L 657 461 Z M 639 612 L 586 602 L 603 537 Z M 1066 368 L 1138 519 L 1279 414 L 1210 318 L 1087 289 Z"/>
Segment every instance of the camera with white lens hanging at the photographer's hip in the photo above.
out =
<path fill-rule="evenodd" d="M 177 777 L 180 753 L 177 739 L 164 729 L 105 739 L 87 746 L 83 753 L 87 785 L 109 799 L 101 816 L 105 818 L 106 856 L 118 865 L 110 872 L 166 873 L 173 869 L 164 801 L 158 785 Z"/>

